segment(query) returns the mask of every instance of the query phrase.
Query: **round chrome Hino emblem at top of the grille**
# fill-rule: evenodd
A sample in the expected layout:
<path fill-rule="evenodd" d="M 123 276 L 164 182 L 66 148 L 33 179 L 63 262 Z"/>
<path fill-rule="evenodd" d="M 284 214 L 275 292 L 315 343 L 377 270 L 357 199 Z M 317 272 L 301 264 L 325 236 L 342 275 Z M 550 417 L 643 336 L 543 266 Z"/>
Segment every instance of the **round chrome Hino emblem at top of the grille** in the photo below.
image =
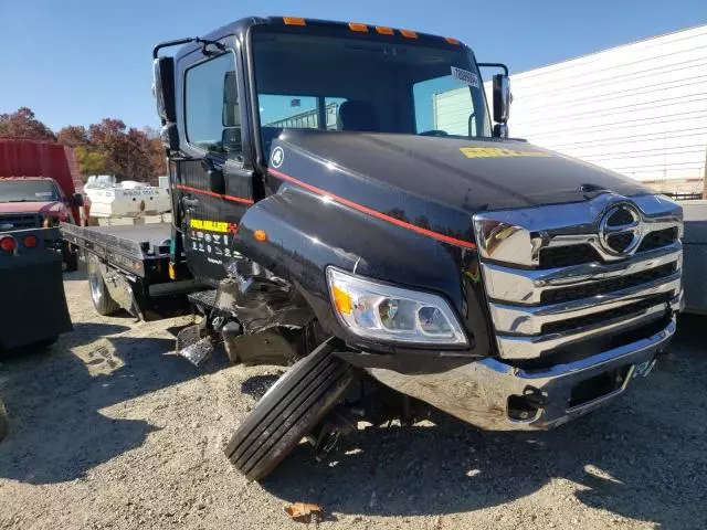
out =
<path fill-rule="evenodd" d="M 629 203 L 614 204 L 599 222 L 599 242 L 614 256 L 630 256 L 641 244 L 641 213 Z"/>

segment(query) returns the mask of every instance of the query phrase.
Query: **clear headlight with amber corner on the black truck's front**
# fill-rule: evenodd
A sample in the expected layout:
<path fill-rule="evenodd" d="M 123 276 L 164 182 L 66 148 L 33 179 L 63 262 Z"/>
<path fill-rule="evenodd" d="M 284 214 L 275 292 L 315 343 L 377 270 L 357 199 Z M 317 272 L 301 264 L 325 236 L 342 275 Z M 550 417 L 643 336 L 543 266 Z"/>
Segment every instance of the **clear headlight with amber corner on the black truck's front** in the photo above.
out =
<path fill-rule="evenodd" d="M 440 296 L 379 284 L 327 268 L 334 308 L 351 332 L 369 339 L 466 344 L 454 311 Z"/>

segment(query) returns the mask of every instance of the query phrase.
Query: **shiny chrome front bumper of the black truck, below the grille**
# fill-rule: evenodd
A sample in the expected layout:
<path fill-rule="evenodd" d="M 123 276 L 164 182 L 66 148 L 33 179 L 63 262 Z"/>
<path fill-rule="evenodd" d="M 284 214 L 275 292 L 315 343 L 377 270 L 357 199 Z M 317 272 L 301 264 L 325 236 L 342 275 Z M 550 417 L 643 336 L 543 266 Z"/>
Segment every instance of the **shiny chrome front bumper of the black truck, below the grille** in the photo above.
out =
<path fill-rule="evenodd" d="M 675 300 L 679 305 L 679 298 Z M 497 359 L 472 362 L 447 372 L 407 375 L 368 368 L 381 383 L 430 403 L 453 416 L 488 431 L 547 430 L 585 414 L 622 393 L 636 367 L 652 367 L 675 333 L 675 316 L 659 332 L 595 356 L 544 370 L 521 370 Z M 581 403 L 571 403 L 578 384 L 621 371 L 616 388 Z M 645 372 L 644 372 L 645 373 Z M 537 404 L 527 417 L 511 417 L 513 400 L 531 396 Z"/>

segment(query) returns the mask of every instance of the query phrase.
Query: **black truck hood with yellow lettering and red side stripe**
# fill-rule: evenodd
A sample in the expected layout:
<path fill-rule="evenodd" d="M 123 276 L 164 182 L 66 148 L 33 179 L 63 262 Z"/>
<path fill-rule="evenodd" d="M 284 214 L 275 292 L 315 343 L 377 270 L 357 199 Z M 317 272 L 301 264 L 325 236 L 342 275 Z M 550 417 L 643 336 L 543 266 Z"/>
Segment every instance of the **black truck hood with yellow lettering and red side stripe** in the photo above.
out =
<path fill-rule="evenodd" d="M 285 130 L 273 140 L 268 171 L 363 213 L 465 242 L 474 241 L 477 212 L 651 192 L 613 171 L 497 138 Z"/>

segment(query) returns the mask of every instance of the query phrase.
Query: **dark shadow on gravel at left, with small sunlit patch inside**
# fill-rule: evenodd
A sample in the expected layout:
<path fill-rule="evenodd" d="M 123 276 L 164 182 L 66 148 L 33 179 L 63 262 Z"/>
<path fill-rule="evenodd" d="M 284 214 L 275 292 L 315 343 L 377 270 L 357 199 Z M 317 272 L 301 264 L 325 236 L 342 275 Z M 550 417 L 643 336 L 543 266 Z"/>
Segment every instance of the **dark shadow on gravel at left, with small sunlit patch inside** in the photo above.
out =
<path fill-rule="evenodd" d="M 110 418 L 103 409 L 199 374 L 167 354 L 172 340 L 115 337 L 130 328 L 113 324 L 74 328 L 43 354 L 0 359 L 0 393 L 11 422 L 0 444 L 2 478 L 51 484 L 84 477 L 155 430 L 143 420 Z"/>

